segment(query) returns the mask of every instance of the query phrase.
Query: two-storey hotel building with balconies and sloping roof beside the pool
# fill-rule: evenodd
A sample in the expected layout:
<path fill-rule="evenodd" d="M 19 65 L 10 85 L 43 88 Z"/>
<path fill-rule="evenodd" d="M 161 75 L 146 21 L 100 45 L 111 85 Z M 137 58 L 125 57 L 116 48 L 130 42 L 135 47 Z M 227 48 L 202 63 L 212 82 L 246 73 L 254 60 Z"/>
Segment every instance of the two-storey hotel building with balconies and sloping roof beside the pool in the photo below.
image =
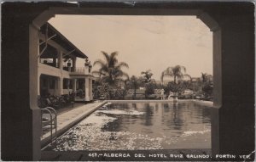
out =
<path fill-rule="evenodd" d="M 88 57 L 52 25 L 46 23 L 38 33 L 38 95 L 75 93 L 75 101 L 90 101 L 93 75 Z M 77 59 L 85 59 L 77 67 Z"/>

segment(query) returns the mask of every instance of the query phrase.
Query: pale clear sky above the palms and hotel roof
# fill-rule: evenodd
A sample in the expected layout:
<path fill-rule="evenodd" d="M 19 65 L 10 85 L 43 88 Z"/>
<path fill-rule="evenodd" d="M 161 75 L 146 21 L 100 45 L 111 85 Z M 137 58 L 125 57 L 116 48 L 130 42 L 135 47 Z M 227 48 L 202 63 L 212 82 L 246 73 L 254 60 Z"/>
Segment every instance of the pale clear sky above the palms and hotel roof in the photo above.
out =
<path fill-rule="evenodd" d="M 177 64 L 192 77 L 212 75 L 212 32 L 195 16 L 55 15 L 49 23 L 92 64 L 103 59 L 101 51 L 118 51 L 130 76 L 151 70 L 160 81 L 161 72 Z M 80 59 L 77 66 L 83 65 Z"/>

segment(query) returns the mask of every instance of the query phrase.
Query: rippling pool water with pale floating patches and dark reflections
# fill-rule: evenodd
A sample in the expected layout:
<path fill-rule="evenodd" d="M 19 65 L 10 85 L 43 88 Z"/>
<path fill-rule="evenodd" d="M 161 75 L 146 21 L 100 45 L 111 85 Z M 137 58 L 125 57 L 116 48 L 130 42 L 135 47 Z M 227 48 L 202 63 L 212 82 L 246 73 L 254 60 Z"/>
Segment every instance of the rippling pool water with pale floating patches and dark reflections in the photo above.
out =
<path fill-rule="evenodd" d="M 210 108 L 178 103 L 111 103 L 97 109 L 47 150 L 211 148 Z"/>

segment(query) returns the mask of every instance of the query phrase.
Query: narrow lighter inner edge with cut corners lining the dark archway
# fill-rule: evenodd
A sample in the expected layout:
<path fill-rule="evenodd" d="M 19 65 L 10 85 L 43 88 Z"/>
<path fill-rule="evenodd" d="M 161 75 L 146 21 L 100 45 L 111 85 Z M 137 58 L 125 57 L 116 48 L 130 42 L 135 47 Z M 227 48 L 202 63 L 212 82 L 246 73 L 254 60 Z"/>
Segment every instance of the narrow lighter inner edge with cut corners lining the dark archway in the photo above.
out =
<path fill-rule="evenodd" d="M 90 9 L 83 9 L 83 8 L 49 8 L 49 10 L 44 11 L 44 13 L 40 14 L 35 20 L 32 21 L 32 29 L 30 31 L 30 35 L 35 35 L 38 30 L 40 29 L 40 26 L 44 25 L 46 21 L 48 21 L 50 18 L 54 17 L 55 14 L 119 14 L 119 15 L 195 15 L 197 19 L 200 19 L 207 27 L 209 28 L 210 31 L 213 32 L 213 84 L 214 84 L 214 89 L 213 89 L 213 98 L 214 98 L 214 107 L 215 109 L 219 109 L 221 107 L 221 65 L 219 64 L 219 58 L 221 57 L 221 52 L 220 52 L 220 35 L 221 35 L 221 29 L 218 25 L 218 22 L 212 19 L 212 17 L 207 14 L 206 12 L 200 10 L 200 9 L 172 9 L 172 10 L 163 10 L 163 9 L 145 9 L 145 10 L 138 10 L 136 14 L 133 14 L 133 11 L 130 11 L 130 9 L 124 10 L 122 8 L 90 8 Z M 36 37 L 33 37 L 36 39 Z M 32 49 L 35 47 L 32 47 L 33 43 L 30 43 L 30 46 Z M 36 44 L 34 44 L 36 46 Z M 38 49 L 37 49 L 38 51 Z M 30 53 L 30 56 L 33 55 L 35 51 L 32 51 Z M 36 62 L 35 56 L 33 56 L 33 59 L 31 59 L 31 68 L 34 66 L 34 63 Z M 33 69 L 33 68 L 32 68 Z M 30 75 L 33 77 L 36 74 L 36 71 L 33 71 L 30 73 Z M 31 78 L 32 81 L 35 81 L 35 78 Z M 32 82 L 31 81 L 31 82 Z M 37 82 L 37 81 L 35 81 Z M 34 85 L 32 85 L 34 86 Z M 33 89 L 33 88 L 31 88 Z M 35 93 L 35 92 L 33 92 Z M 31 95 L 31 102 L 34 102 L 33 95 Z M 35 105 L 35 103 L 33 103 Z M 216 118 L 218 116 L 212 115 L 212 118 Z M 218 120 L 218 119 L 213 119 Z M 214 126 L 214 125 L 213 125 Z M 216 135 L 218 134 L 218 127 L 216 129 L 212 129 L 214 135 L 212 136 L 215 144 L 212 145 L 212 152 L 213 153 L 218 153 L 218 140 L 216 140 Z M 36 133 L 36 132 L 35 132 Z"/>

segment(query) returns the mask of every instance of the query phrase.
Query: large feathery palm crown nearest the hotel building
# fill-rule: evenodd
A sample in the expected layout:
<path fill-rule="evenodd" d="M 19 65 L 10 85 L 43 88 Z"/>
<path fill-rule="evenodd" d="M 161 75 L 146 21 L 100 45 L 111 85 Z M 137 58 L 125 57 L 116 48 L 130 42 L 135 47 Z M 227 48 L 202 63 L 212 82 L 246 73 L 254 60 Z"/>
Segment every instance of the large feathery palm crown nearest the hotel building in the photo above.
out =
<path fill-rule="evenodd" d="M 129 78 L 123 70 L 123 67 L 129 68 L 129 65 L 125 62 L 120 62 L 117 59 L 118 52 L 106 53 L 102 51 L 105 60 L 98 59 L 93 65 L 99 64 L 101 67 L 97 71 L 93 71 L 92 74 L 99 75 L 100 80 L 107 82 L 110 86 L 118 84 L 120 81 L 124 81 L 124 77 Z"/>

